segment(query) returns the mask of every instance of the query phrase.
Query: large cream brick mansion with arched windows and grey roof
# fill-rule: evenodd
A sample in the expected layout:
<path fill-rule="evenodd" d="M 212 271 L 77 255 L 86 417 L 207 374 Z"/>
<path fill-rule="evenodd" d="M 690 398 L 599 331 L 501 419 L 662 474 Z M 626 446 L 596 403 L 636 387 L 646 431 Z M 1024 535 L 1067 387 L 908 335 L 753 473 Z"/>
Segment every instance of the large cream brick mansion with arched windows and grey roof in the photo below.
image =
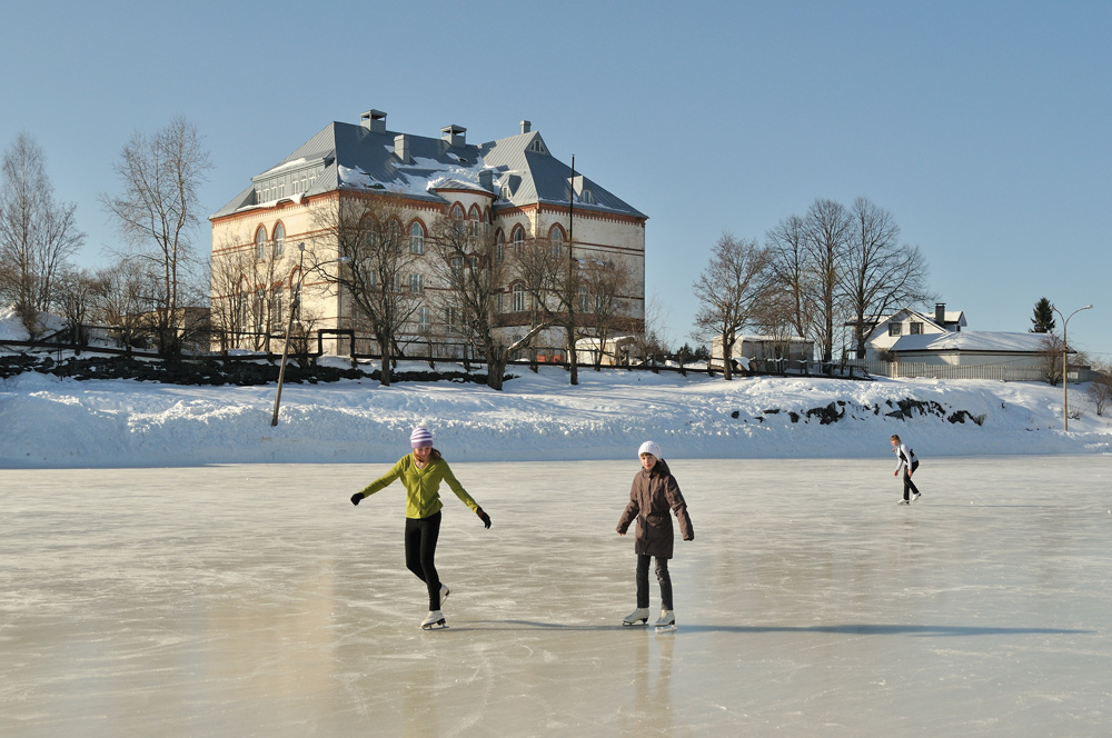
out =
<path fill-rule="evenodd" d="M 373 352 L 373 337 L 361 335 L 349 296 L 320 270 L 302 275 L 301 265 L 310 256 L 319 265 L 339 253 L 322 213 L 339 212 L 344 201 L 376 199 L 389 201 L 404 248 L 415 257 L 413 273 L 397 286 L 418 295 L 403 331 L 406 341 L 453 340 L 430 249 L 445 218 L 480 228 L 499 253 L 503 243 L 510 249 L 540 241 L 564 248 L 570 263 L 620 262 L 629 275 L 620 296 L 626 326 L 643 325 L 647 217 L 556 159 L 528 121 L 514 136 L 476 144 L 466 142 L 459 126 L 443 128 L 436 138 L 387 130 L 386 113 L 369 110 L 359 124 L 326 126 L 210 217 L 214 327 L 222 329 L 224 348 L 271 350 L 272 341 L 280 348 L 294 290 L 300 289 L 295 318 L 314 316 L 311 330 L 306 328 L 314 349 L 320 341 L 329 352 L 346 353 L 349 346 Z M 497 330 L 509 342 L 529 330 L 535 312 L 520 280 L 512 270 L 505 275 Z M 353 331 L 354 345 L 345 343 Z M 540 340 L 564 343 L 556 332 Z"/>

